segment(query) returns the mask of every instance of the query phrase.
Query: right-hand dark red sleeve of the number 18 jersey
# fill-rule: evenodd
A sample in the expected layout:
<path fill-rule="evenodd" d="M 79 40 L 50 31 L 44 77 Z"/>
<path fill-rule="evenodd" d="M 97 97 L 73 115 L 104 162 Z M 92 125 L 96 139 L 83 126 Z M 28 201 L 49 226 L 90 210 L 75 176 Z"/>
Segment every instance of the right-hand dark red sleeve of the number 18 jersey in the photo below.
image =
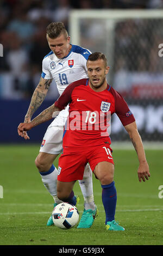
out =
<path fill-rule="evenodd" d="M 112 94 L 115 99 L 115 113 L 120 118 L 123 126 L 131 124 L 135 121 L 133 113 L 130 111 L 127 102 L 124 100 L 121 94 L 112 89 Z"/>

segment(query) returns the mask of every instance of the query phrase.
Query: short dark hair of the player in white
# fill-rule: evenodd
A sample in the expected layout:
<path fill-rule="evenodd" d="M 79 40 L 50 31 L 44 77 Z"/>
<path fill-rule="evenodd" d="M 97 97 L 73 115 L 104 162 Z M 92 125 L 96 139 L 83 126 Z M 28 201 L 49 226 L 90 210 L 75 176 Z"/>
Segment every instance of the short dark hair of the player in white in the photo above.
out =
<path fill-rule="evenodd" d="M 61 33 L 65 35 L 65 38 L 67 39 L 68 33 L 66 31 L 65 25 L 62 22 L 52 22 L 50 23 L 46 28 L 46 33 L 49 36 L 49 38 L 57 38 Z"/>

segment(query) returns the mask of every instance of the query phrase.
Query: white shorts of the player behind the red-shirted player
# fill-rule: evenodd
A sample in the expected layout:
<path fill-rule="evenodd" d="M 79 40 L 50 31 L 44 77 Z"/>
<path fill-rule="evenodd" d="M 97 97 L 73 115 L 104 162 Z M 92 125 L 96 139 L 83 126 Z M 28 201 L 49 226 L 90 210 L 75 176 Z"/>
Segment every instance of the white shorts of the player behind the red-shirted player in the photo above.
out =
<path fill-rule="evenodd" d="M 40 152 L 53 155 L 58 155 L 62 152 L 62 137 L 68 117 L 68 109 L 69 106 L 60 111 L 59 115 L 48 126 L 41 143 Z"/>

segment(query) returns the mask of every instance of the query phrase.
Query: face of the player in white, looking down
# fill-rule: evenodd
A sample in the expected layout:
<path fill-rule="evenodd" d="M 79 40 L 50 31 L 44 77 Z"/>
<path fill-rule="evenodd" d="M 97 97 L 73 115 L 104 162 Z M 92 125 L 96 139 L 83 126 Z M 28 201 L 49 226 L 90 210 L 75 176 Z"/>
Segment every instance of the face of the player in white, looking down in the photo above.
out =
<path fill-rule="evenodd" d="M 54 54 L 59 58 L 64 58 L 70 51 L 70 36 L 65 38 L 64 34 L 60 34 L 57 38 L 49 38 L 47 35 L 48 45 Z"/>

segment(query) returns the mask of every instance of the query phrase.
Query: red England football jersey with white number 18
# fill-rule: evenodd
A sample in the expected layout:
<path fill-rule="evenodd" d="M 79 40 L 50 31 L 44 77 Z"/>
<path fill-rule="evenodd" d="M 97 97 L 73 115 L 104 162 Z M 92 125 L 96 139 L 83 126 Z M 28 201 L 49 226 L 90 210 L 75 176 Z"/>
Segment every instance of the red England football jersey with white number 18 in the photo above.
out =
<path fill-rule="evenodd" d="M 102 92 L 95 92 L 88 79 L 71 83 L 55 101 L 55 106 L 64 109 L 69 103 L 63 138 L 63 147 L 80 147 L 108 143 L 107 132 L 110 117 L 116 113 L 123 126 L 135 121 L 134 115 L 123 97 L 109 85 Z"/>

